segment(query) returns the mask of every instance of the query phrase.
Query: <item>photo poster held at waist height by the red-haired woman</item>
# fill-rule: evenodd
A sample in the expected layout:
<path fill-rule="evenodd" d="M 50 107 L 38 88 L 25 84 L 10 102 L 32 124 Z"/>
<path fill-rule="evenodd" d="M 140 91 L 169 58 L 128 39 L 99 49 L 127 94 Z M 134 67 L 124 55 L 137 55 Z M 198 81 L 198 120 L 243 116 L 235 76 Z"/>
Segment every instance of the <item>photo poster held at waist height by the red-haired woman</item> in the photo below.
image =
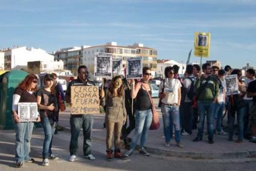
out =
<path fill-rule="evenodd" d="M 37 103 L 18 103 L 18 116 L 20 122 L 36 122 L 39 116 Z"/>

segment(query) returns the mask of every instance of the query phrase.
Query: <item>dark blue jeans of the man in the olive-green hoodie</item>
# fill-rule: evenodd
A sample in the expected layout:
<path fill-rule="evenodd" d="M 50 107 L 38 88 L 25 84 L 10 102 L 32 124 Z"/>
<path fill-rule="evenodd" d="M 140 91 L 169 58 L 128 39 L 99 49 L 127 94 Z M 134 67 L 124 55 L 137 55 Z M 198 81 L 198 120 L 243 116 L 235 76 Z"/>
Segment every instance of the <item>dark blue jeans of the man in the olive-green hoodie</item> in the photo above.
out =
<path fill-rule="evenodd" d="M 202 138 L 204 129 L 204 117 L 207 115 L 207 132 L 208 140 L 213 140 L 213 116 L 214 116 L 215 103 L 207 101 L 198 101 L 198 137 Z"/>

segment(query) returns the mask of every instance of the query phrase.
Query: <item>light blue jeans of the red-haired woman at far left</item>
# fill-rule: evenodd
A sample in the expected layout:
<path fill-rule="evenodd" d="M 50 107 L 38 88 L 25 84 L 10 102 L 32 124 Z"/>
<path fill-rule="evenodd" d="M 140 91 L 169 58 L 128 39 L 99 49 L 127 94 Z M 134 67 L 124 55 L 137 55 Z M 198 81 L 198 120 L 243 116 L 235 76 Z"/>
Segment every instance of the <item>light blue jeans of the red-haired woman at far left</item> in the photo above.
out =
<path fill-rule="evenodd" d="M 14 123 L 16 128 L 16 162 L 30 159 L 30 140 L 34 128 L 34 122 Z"/>

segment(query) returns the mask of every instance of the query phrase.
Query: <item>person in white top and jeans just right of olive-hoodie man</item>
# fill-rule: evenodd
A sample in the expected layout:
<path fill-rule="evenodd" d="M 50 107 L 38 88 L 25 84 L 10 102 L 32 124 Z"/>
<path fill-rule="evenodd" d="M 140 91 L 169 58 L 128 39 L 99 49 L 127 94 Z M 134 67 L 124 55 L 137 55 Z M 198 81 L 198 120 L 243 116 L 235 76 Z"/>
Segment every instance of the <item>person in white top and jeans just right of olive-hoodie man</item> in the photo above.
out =
<path fill-rule="evenodd" d="M 217 73 L 217 81 L 219 83 L 219 93 L 215 104 L 214 119 L 216 120 L 216 134 L 226 135 L 226 132 L 221 128 L 222 114 L 225 107 L 226 90 L 224 88 L 225 70 L 220 69 Z"/>

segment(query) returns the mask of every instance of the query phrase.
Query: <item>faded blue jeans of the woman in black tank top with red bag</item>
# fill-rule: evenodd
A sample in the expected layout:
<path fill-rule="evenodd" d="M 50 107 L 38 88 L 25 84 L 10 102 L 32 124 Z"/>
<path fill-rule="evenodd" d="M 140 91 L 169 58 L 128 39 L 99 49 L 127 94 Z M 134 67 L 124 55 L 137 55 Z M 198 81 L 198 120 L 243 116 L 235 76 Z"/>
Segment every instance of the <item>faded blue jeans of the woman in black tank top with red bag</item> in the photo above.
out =
<path fill-rule="evenodd" d="M 144 148 L 152 122 L 152 110 L 135 110 L 135 132 L 130 149 L 134 150 L 140 138 L 140 148 Z"/>

